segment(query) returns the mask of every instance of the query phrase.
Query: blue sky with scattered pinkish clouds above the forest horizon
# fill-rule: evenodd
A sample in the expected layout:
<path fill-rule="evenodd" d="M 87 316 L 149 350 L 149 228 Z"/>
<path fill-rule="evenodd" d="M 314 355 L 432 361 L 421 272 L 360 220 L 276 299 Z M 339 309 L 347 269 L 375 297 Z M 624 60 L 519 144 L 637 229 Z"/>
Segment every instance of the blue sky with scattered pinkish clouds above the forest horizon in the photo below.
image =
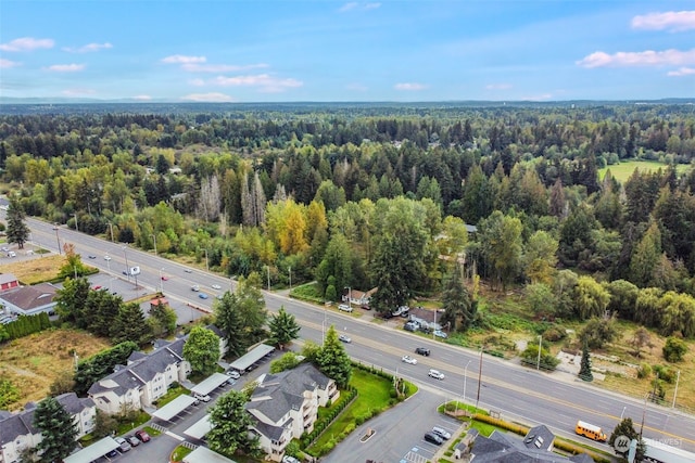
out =
<path fill-rule="evenodd" d="M 695 2 L 2 0 L 0 97 L 693 98 Z"/>

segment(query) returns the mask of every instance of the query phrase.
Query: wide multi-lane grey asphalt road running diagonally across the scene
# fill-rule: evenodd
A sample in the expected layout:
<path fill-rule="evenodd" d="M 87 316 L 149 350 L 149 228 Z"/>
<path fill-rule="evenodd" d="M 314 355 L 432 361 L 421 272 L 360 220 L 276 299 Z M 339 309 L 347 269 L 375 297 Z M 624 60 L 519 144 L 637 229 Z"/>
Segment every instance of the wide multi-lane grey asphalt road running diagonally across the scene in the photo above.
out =
<path fill-rule="evenodd" d="M 31 228 L 34 242 L 54 252 L 59 240 L 61 244 L 75 244 L 84 261 L 112 274 L 111 278 L 125 280 L 132 286 L 132 295 L 163 288 L 170 300 L 211 310 L 215 295 L 235 287 L 230 279 L 197 269 L 188 273 L 190 269 L 187 267 L 156 257 L 153 252 L 124 247 L 123 244 L 65 228 L 52 230 L 51 224 L 34 219 L 28 219 L 27 224 Z M 30 244 L 27 247 L 30 248 Z M 106 254 L 112 257 L 110 261 L 104 260 Z M 97 258 L 88 259 L 88 255 Z M 126 265 L 140 267 L 142 273 L 138 275 L 137 285 L 143 287 L 136 288 L 135 278 L 127 279 L 122 274 Z M 166 275 L 168 280 L 162 281 L 161 275 Z M 194 284 L 211 297 L 200 299 L 198 293 L 191 291 Z M 213 284 L 220 285 L 222 290 L 213 290 Z M 128 298 L 127 294 L 124 294 L 124 298 Z M 285 306 L 296 317 L 302 325 L 302 338 L 320 343 L 323 333 L 332 324 L 352 338 L 348 351 L 354 359 L 383 370 L 397 371 L 401 376 L 439 390 L 441 397 L 460 399 L 465 395 L 468 402 L 500 412 L 502 417 L 531 425 L 545 424 L 556 435 L 574 439 L 583 439 L 573 433 L 578 420 L 596 424 L 610 433 L 621 415 L 632 417 L 636 426 L 641 425 L 644 416 L 645 437 L 668 439 L 670 445 L 695 451 L 695 420 L 691 415 L 602 390 L 577 382 L 565 373 L 541 373 L 486 355 L 482 355 L 481 361 L 481 356 L 476 351 L 394 330 L 383 322 L 374 321 L 369 312 L 362 309 L 356 308 L 352 314 L 348 314 L 334 308 L 320 308 L 267 292 L 265 299 L 268 310 L 277 311 Z M 429 347 L 431 357 L 416 356 L 416 346 Z M 401 357 L 405 353 L 417 357 L 418 364 L 402 363 Z M 438 381 L 428 377 L 429 369 L 440 370 L 446 378 Z"/>

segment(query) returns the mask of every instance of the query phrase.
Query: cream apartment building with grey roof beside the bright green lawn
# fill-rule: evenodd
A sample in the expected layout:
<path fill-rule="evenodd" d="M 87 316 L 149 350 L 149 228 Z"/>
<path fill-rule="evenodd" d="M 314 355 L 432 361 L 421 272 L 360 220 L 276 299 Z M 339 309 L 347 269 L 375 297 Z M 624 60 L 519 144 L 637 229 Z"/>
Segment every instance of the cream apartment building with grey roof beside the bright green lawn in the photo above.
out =
<path fill-rule="evenodd" d="M 339 397 L 336 382 L 311 363 L 262 375 L 247 410 L 254 420 L 252 432 L 258 435 L 267 458 L 279 462 L 292 438 L 314 429 L 318 408 Z"/>

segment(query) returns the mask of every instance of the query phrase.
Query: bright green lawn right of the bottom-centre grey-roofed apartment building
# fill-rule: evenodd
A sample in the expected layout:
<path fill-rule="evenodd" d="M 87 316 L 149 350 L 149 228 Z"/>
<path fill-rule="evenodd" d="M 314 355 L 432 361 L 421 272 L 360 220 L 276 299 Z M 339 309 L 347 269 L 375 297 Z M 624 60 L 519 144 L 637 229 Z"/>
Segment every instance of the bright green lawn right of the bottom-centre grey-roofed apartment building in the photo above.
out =
<path fill-rule="evenodd" d="M 367 421 L 372 413 L 388 409 L 391 400 L 391 381 L 367 373 L 362 369 L 353 369 L 350 385 L 358 390 L 357 398 L 343 413 L 321 434 L 309 449 L 321 449 L 328 441 L 342 434 L 349 425 L 355 425 L 357 417 Z"/>

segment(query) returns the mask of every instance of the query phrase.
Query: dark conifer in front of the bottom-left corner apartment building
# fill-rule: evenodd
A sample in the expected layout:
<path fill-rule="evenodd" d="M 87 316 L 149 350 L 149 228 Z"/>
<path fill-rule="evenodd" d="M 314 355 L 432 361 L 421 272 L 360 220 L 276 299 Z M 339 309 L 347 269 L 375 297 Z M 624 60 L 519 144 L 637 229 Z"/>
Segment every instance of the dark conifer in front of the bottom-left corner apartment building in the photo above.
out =
<path fill-rule="evenodd" d="M 49 397 L 39 402 L 34 412 L 34 426 L 41 430 L 37 446 L 42 451 L 41 462 L 63 461 L 75 449 L 77 427 L 56 399 Z"/>

